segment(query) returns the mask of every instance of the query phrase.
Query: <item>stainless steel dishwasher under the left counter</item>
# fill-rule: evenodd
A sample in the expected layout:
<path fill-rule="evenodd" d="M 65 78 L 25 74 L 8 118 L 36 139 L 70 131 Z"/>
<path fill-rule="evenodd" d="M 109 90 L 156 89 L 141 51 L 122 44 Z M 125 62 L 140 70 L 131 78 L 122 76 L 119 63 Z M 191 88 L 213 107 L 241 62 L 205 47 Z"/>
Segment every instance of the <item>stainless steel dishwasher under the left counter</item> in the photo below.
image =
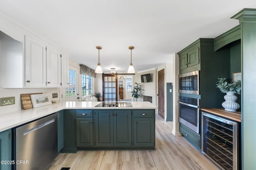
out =
<path fill-rule="evenodd" d="M 56 113 L 17 127 L 13 132 L 14 170 L 43 170 L 58 155 Z"/>

